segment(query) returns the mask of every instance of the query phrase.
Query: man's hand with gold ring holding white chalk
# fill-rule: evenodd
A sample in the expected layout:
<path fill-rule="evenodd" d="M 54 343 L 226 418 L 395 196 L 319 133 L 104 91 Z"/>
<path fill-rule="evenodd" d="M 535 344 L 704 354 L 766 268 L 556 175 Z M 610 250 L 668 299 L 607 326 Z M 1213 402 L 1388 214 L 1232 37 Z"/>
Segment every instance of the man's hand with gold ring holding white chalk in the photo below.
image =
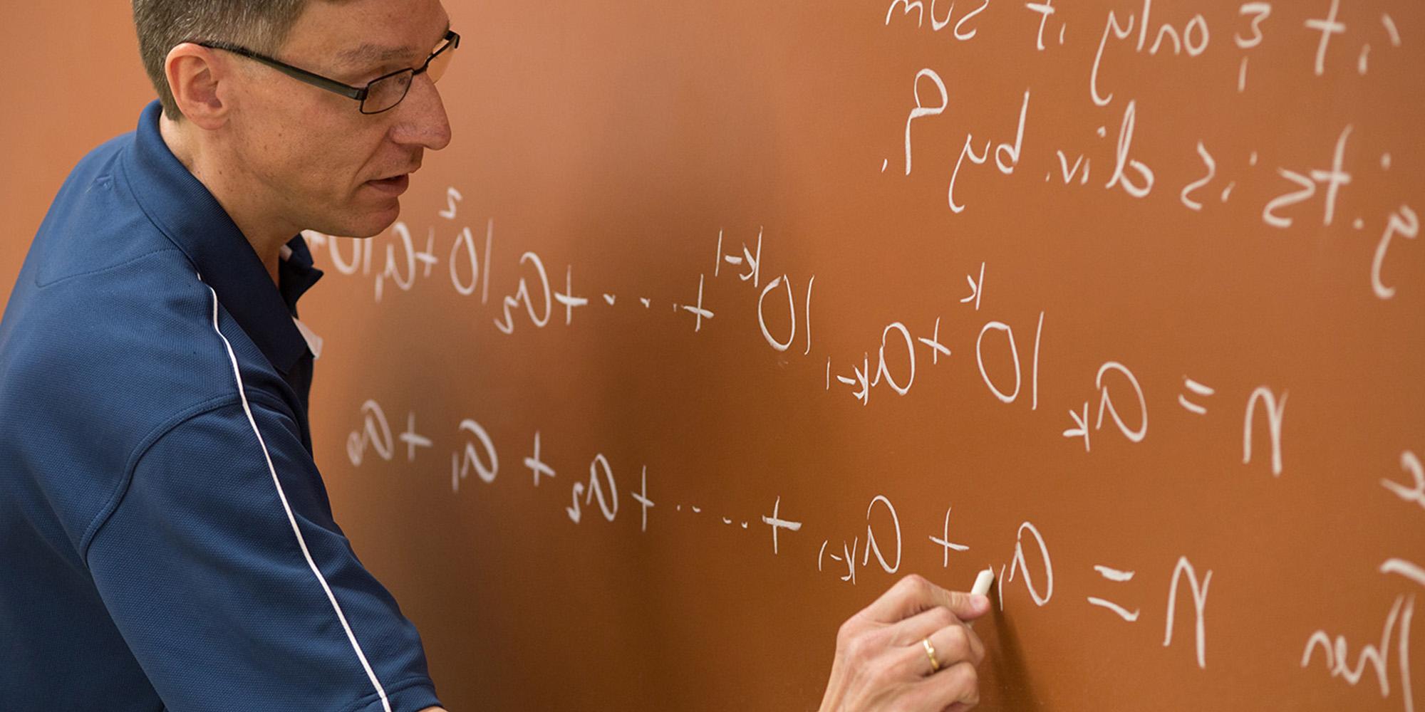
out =
<path fill-rule="evenodd" d="M 989 600 L 946 591 L 919 575 L 896 582 L 836 634 L 836 659 L 821 712 L 962 712 L 979 702 L 985 645 L 966 621 Z M 935 649 L 938 671 L 932 671 Z"/>

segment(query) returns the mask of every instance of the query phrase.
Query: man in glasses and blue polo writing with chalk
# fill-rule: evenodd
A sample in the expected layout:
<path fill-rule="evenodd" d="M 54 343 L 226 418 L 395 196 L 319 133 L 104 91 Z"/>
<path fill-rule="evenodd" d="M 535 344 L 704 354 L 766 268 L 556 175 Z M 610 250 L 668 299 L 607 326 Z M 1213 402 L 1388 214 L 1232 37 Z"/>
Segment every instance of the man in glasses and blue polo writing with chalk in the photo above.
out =
<path fill-rule="evenodd" d="M 390 225 L 459 47 L 437 0 L 134 0 L 160 101 L 86 157 L 0 322 L 6 709 L 440 709 L 311 454 L 298 232 Z M 983 597 L 841 628 L 824 709 L 966 709 Z M 573 652 L 574 656 L 579 651 Z"/>

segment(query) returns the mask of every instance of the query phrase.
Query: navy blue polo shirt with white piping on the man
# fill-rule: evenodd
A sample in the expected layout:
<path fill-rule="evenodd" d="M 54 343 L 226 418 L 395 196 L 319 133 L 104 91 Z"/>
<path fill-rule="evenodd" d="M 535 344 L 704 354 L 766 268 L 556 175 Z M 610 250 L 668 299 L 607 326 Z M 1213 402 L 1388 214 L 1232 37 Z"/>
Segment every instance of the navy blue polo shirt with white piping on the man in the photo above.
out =
<path fill-rule="evenodd" d="M 439 705 L 312 461 L 321 273 L 294 238 L 274 285 L 158 115 L 74 168 L 0 320 L 0 708 Z"/>

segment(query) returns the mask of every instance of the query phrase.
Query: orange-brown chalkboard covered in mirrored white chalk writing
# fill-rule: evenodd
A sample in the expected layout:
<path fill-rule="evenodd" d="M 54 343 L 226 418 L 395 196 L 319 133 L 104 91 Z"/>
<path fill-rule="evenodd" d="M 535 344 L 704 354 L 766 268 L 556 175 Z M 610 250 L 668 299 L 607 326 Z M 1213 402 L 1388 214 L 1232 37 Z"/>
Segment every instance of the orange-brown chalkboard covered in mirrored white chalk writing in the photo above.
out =
<path fill-rule="evenodd" d="M 452 711 L 811 709 L 986 565 L 982 709 L 1425 698 L 1418 3 L 447 9 L 455 141 L 304 320 Z M 0 30 L 6 286 L 124 10 Z"/>

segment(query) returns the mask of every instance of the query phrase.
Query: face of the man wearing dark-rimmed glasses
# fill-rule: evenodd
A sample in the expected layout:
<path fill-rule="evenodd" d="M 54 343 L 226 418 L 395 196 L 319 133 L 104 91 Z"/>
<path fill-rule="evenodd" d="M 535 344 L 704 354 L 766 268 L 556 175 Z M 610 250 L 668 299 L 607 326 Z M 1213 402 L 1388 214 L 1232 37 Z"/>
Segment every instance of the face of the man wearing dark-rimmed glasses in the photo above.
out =
<path fill-rule="evenodd" d="M 275 57 L 353 87 L 420 67 L 449 17 L 439 0 L 311 0 Z M 382 114 L 254 61 L 239 67 L 229 157 L 265 224 L 370 236 L 395 222 L 426 148 L 450 142 L 429 74 Z"/>

